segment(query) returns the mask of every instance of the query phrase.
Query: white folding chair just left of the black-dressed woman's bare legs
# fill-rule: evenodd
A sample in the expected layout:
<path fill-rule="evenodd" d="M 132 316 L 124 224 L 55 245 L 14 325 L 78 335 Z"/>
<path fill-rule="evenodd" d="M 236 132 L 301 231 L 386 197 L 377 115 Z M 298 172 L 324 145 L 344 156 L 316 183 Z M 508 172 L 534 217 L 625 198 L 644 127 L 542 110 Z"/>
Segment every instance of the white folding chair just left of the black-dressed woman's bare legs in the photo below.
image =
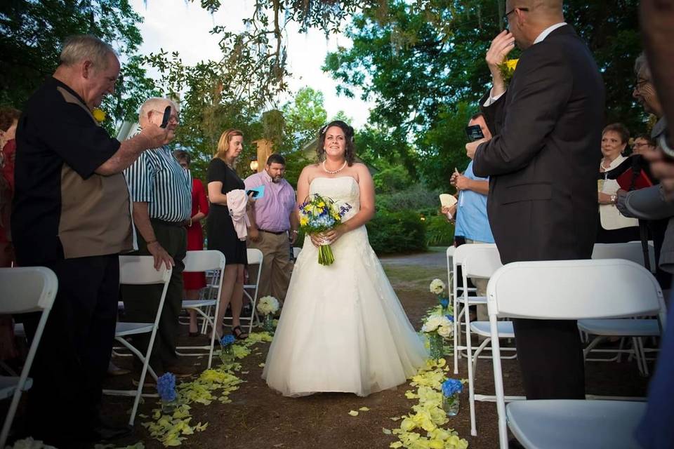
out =
<path fill-rule="evenodd" d="M 203 300 L 183 300 L 183 309 L 194 310 L 201 315 L 204 323 L 211 326 L 211 344 L 201 346 L 179 346 L 176 349 L 208 349 L 209 350 L 209 366 L 211 368 L 211 361 L 213 360 L 213 346 L 216 341 L 216 326 L 215 317 L 218 316 L 218 309 L 220 308 L 220 290 L 223 288 L 223 274 L 225 273 L 225 255 L 218 250 L 201 250 L 201 251 L 187 251 L 185 259 L 184 272 L 206 272 L 210 270 L 216 271 L 216 299 L 204 298 Z M 215 314 L 211 316 L 210 309 L 215 310 Z M 202 326 L 205 327 L 205 326 Z M 183 353 L 178 352 L 181 356 L 201 356 L 203 353 Z"/>

